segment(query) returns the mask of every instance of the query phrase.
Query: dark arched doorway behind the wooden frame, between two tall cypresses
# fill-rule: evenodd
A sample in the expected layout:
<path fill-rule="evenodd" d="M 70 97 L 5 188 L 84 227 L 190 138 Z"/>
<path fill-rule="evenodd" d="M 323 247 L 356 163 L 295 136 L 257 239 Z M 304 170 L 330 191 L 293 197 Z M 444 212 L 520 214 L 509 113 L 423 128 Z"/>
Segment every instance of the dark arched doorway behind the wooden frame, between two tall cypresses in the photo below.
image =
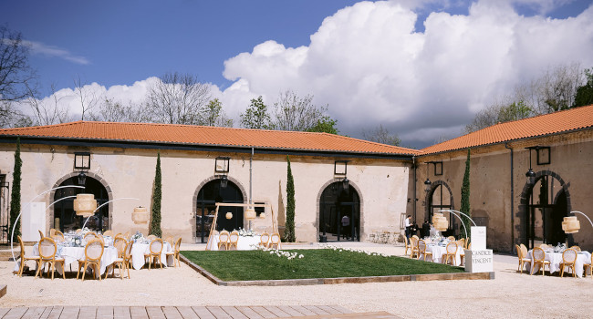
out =
<path fill-rule="evenodd" d="M 216 211 L 215 203 L 217 202 L 243 203 L 243 193 L 231 180 L 227 181 L 226 187 L 222 187 L 220 179 L 210 180 L 203 185 L 196 200 L 197 213 L 195 219 L 195 236 L 201 242 L 208 242 L 214 211 Z M 233 214 L 233 218 L 230 220 L 225 217 L 227 212 Z M 216 221 L 216 231 L 226 230 L 232 232 L 239 228 L 243 228 L 243 207 L 220 207 Z"/>

